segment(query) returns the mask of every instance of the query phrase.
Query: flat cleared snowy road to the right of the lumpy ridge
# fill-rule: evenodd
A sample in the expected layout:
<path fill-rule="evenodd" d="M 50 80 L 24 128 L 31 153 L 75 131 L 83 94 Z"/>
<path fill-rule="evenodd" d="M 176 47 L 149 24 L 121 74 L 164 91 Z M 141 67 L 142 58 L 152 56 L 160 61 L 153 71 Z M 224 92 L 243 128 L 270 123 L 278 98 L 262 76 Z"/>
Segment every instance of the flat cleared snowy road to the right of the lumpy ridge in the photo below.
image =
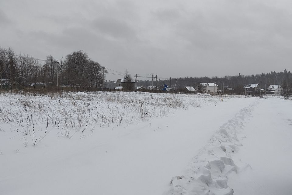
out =
<path fill-rule="evenodd" d="M 229 176 L 228 184 L 237 195 L 291 194 L 292 101 L 262 99 L 252 114 L 243 146 L 232 158 L 242 170 Z"/>

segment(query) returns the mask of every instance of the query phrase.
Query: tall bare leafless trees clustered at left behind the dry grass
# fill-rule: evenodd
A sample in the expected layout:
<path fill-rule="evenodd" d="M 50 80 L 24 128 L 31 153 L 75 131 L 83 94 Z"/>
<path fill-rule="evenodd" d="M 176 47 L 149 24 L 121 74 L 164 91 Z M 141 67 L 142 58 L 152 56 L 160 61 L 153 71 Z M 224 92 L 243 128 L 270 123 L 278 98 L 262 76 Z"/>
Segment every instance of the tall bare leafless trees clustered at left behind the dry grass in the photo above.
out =
<path fill-rule="evenodd" d="M 57 72 L 61 85 L 101 87 L 103 83 L 103 67 L 82 50 L 66 55 L 57 63 L 51 55 L 34 59 L 29 55 L 16 55 L 12 48 L 0 48 L 1 84 L 24 87 L 56 83 Z"/>

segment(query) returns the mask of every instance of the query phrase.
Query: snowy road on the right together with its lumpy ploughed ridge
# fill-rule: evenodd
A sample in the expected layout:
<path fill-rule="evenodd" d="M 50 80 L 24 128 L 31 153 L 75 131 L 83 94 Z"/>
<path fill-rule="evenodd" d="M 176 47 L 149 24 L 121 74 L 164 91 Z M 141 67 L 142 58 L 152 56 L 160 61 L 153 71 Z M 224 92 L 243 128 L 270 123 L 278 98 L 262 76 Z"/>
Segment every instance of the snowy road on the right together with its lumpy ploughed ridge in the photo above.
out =
<path fill-rule="evenodd" d="M 291 101 L 270 98 L 241 109 L 172 178 L 166 194 L 291 194 L 291 108 Z"/>

